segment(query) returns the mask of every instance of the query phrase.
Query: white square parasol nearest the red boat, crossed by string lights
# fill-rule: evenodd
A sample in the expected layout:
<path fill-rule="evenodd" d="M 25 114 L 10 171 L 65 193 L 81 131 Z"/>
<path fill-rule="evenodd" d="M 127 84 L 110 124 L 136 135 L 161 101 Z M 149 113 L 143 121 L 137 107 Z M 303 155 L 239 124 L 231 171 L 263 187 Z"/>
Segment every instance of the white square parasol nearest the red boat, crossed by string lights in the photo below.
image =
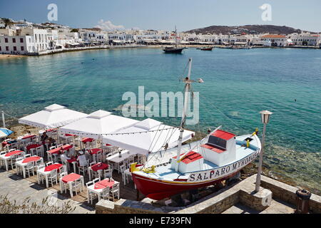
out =
<path fill-rule="evenodd" d="M 180 130 L 148 118 L 114 134 L 117 135 L 103 136 L 103 142 L 146 155 L 148 152 L 164 150 L 166 144 L 168 148 L 178 145 Z M 192 138 L 193 134 L 190 130 L 184 130 L 183 142 Z"/>

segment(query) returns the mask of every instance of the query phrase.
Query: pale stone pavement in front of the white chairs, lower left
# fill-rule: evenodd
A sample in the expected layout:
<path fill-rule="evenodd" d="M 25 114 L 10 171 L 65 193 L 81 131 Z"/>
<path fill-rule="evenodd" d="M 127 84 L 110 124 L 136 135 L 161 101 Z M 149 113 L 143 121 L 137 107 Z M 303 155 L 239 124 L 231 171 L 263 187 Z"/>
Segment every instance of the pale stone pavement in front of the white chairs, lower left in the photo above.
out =
<path fill-rule="evenodd" d="M 72 199 L 67 199 L 59 194 L 55 194 L 54 191 L 55 190 L 48 190 L 44 187 L 29 182 L 28 180 L 24 180 L 17 175 L 11 174 L 10 172 L 0 170 L 0 195 L 7 195 L 8 199 L 10 200 L 15 199 L 17 204 L 22 203 L 26 197 L 30 197 L 30 203 L 39 202 L 39 204 L 41 204 L 44 198 L 51 196 L 49 198 L 49 202 L 52 202 L 56 205 L 71 201 L 71 205 L 76 207 L 76 209 L 71 212 L 72 214 L 95 213 L 95 209 Z"/>

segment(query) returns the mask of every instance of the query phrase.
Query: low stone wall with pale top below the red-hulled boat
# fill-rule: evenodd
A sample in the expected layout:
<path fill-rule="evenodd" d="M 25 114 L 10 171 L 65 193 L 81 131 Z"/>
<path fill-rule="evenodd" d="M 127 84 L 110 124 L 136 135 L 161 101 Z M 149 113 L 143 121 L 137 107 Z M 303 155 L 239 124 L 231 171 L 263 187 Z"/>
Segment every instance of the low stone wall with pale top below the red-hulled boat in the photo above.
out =
<path fill-rule="evenodd" d="M 151 202 L 152 199 L 143 199 L 142 202 L 119 199 L 111 202 L 101 199 L 96 204 L 97 214 L 220 214 L 238 202 L 253 209 L 265 209 L 268 201 L 273 197 L 281 199 L 292 205 L 296 205 L 295 191 L 297 187 L 292 187 L 285 183 L 273 180 L 270 177 L 262 176 L 260 192 L 254 193 L 256 175 L 246 178 L 235 185 L 226 187 L 218 192 L 214 192 L 203 199 L 194 202 L 187 207 L 156 207 Z M 262 192 L 267 192 L 265 196 Z M 272 192 L 272 194 L 268 194 Z M 263 202 L 263 204 L 261 204 Z M 265 203 L 266 202 L 266 203 Z M 310 198 L 310 211 L 321 213 L 321 197 L 313 195 Z"/>

